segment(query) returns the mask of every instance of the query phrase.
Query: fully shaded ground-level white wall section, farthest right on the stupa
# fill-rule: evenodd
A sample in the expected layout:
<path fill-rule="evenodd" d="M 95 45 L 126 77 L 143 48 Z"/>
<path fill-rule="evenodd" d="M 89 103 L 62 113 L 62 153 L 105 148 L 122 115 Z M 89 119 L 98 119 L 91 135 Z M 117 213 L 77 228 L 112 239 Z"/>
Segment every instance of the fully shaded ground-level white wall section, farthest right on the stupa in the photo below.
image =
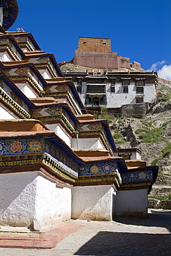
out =
<path fill-rule="evenodd" d="M 118 216 L 145 216 L 148 214 L 148 189 L 117 191 Z"/>

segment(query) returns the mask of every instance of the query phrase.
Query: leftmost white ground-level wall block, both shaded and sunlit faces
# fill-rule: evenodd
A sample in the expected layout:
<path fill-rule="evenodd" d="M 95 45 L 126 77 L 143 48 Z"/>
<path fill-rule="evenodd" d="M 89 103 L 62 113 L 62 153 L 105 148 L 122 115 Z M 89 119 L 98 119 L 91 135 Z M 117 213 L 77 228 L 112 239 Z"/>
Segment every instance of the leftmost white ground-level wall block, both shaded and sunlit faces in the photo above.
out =
<path fill-rule="evenodd" d="M 46 230 L 70 212 L 70 188 L 57 188 L 41 172 L 0 175 L 0 225 Z"/>

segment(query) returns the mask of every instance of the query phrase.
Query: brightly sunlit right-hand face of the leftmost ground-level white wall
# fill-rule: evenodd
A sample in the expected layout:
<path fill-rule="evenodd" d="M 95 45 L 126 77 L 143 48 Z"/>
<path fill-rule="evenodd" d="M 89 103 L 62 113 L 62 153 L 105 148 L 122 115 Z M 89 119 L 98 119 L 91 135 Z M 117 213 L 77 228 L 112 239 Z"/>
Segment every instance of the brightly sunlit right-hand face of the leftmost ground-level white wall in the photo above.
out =
<path fill-rule="evenodd" d="M 71 189 L 57 188 L 42 176 L 37 177 L 37 196 L 35 199 L 34 228 L 49 227 L 57 222 L 70 219 Z"/>

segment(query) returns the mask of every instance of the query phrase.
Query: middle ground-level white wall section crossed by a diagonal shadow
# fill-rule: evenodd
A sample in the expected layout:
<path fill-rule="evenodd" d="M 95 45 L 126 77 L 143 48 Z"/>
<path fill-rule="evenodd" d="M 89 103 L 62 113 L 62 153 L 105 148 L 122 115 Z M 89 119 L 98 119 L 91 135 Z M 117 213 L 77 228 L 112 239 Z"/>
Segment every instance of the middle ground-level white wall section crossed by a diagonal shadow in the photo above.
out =
<path fill-rule="evenodd" d="M 72 219 L 112 221 L 111 185 L 97 185 L 72 188 Z"/>

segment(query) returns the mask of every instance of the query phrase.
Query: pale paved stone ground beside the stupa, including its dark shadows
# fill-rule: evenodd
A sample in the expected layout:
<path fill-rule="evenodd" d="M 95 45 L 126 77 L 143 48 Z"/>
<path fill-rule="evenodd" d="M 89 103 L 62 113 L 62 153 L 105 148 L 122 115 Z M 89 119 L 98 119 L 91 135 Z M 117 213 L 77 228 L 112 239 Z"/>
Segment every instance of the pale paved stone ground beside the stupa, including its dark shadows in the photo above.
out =
<path fill-rule="evenodd" d="M 150 212 L 148 219 L 118 217 L 114 221 L 70 220 L 66 224 L 79 225 L 79 229 L 59 241 L 55 248 L 0 248 L 0 255 L 170 256 L 171 211 Z"/>

